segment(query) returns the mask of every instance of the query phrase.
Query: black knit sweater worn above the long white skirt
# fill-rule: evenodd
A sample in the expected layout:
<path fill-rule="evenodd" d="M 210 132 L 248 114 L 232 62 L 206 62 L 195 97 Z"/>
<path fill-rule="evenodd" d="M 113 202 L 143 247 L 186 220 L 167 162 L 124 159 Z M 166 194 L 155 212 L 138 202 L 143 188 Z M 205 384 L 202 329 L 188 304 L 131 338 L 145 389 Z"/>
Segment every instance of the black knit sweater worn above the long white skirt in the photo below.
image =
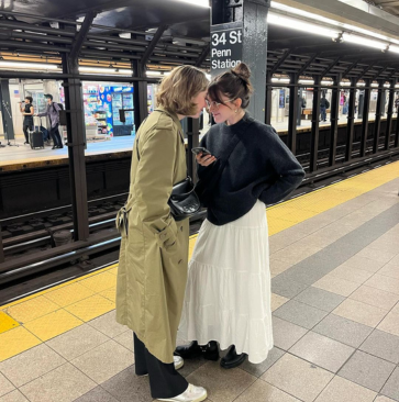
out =
<path fill-rule="evenodd" d="M 234 135 L 239 143 L 229 157 L 226 153 Z M 301 165 L 276 131 L 247 113 L 236 124 L 213 125 L 200 145 L 219 159 L 212 166 L 199 166 L 198 176 L 204 186 L 218 175 L 221 161 L 229 157 L 207 202 L 207 217 L 218 226 L 245 215 L 257 200 L 266 204 L 280 201 L 301 183 L 304 176 Z"/>

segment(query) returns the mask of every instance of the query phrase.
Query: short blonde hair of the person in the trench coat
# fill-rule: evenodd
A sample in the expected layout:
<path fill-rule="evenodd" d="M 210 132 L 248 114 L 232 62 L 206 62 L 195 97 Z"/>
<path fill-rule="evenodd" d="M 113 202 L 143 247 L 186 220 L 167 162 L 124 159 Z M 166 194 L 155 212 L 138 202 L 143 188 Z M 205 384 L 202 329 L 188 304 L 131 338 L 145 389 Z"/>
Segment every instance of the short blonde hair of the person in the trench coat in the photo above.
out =
<path fill-rule="evenodd" d="M 206 74 L 199 68 L 176 67 L 162 80 L 156 94 L 157 104 L 176 114 L 193 115 L 197 113 L 197 104 L 192 98 L 206 91 L 208 83 Z"/>

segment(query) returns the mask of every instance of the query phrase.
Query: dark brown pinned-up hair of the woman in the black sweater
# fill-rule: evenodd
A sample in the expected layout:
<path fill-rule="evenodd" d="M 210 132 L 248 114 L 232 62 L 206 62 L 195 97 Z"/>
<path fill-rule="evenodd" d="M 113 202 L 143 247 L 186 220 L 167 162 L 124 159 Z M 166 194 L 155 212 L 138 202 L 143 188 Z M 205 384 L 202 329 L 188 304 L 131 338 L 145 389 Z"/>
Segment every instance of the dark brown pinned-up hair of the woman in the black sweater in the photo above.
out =
<path fill-rule="evenodd" d="M 208 97 L 219 103 L 224 103 L 221 96 L 229 99 L 241 99 L 241 108 L 246 109 L 254 91 L 251 83 L 251 70 L 245 63 L 240 63 L 235 68 L 214 78 L 208 87 Z"/>

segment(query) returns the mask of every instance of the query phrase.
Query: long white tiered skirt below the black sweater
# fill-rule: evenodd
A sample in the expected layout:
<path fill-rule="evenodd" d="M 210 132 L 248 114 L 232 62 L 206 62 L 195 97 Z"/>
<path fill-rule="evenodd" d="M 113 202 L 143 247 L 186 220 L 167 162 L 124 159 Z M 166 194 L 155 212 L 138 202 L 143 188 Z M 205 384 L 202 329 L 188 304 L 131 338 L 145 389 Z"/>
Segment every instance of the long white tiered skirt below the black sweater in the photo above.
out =
<path fill-rule="evenodd" d="M 259 364 L 273 348 L 266 206 L 257 201 L 223 226 L 206 220 L 188 267 L 179 338 L 237 354 Z"/>

